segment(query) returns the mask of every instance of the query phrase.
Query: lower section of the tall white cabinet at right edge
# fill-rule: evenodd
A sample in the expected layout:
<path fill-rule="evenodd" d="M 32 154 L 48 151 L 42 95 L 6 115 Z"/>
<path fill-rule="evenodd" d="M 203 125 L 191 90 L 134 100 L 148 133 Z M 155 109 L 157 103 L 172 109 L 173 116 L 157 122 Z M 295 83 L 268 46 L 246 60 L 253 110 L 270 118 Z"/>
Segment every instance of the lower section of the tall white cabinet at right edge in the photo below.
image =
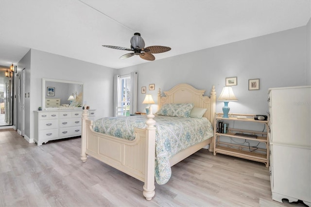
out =
<path fill-rule="evenodd" d="M 282 198 L 289 196 L 310 202 L 311 149 L 277 144 L 274 144 L 272 149 L 272 198 L 276 192 L 284 195 Z"/>

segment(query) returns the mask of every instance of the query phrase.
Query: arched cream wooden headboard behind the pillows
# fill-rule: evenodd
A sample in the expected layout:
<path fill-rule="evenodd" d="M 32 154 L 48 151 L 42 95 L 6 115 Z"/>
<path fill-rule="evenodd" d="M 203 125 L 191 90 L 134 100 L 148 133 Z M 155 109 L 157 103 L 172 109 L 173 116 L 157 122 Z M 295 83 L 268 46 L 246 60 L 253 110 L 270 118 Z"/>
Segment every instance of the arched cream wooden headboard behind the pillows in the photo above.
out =
<path fill-rule="evenodd" d="M 171 90 L 164 91 L 161 96 L 161 89 L 157 94 L 158 109 L 164 104 L 186 104 L 193 103 L 195 107 L 207 108 L 203 115 L 213 125 L 216 107 L 216 91 L 215 86 L 212 87 L 210 97 L 203 96 L 206 90 L 198 90 L 188 84 L 178 84 Z"/>

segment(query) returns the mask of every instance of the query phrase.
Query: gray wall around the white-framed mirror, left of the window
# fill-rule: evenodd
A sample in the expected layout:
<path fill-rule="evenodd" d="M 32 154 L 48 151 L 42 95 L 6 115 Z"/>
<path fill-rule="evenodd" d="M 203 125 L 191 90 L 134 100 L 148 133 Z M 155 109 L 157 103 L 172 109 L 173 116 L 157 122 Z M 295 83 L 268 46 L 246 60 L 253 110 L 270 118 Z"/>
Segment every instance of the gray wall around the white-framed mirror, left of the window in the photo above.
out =
<path fill-rule="evenodd" d="M 31 93 L 26 109 L 25 135 L 33 138 L 34 110 L 42 105 L 42 78 L 68 80 L 84 83 L 84 101 L 90 109 L 96 109 L 96 118 L 111 116 L 113 97 L 113 70 L 61 55 L 31 50 L 26 68 L 26 93 Z M 30 63 L 30 65 L 29 65 Z M 18 63 L 18 66 L 20 63 Z M 31 68 L 31 76 L 30 76 Z M 27 99 L 26 99 L 27 100 Z"/>

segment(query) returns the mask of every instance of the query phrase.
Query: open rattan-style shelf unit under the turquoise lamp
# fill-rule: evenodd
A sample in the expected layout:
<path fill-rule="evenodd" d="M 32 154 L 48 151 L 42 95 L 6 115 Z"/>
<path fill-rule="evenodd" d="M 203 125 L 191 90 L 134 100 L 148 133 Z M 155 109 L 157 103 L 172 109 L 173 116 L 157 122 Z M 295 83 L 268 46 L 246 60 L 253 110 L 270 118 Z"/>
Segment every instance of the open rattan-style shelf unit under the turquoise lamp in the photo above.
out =
<path fill-rule="evenodd" d="M 229 118 L 223 118 L 222 113 L 215 114 L 215 121 L 214 121 L 214 155 L 217 153 L 236 156 L 244 159 L 254 160 L 258 162 L 265 163 L 266 167 L 269 167 L 269 138 L 267 132 L 259 132 L 254 130 L 248 129 L 237 129 L 237 128 L 228 128 L 226 133 L 218 132 L 218 128 L 221 127 L 219 125 L 219 121 L 223 122 L 231 122 L 231 125 L 235 121 L 244 121 L 244 122 L 253 122 L 255 124 L 264 124 L 264 128 L 267 129 L 268 121 L 259 121 L 254 120 L 253 114 L 230 114 Z M 238 119 L 238 116 L 246 117 L 246 119 Z M 233 123 L 232 123 L 233 122 Z M 230 125 L 230 123 L 229 123 Z M 221 130 L 220 130 L 221 131 Z M 236 133 L 241 133 L 242 135 L 236 135 Z M 253 137 L 249 137 L 253 136 Z M 257 137 L 256 137 L 257 136 Z M 249 141 L 256 141 L 259 143 L 264 143 L 266 149 L 264 148 L 257 148 L 256 146 L 249 146 L 242 145 L 242 144 L 234 144 L 234 143 L 227 143 L 220 140 L 220 137 L 229 137 L 229 138 L 236 138 L 245 140 L 244 143 Z"/>

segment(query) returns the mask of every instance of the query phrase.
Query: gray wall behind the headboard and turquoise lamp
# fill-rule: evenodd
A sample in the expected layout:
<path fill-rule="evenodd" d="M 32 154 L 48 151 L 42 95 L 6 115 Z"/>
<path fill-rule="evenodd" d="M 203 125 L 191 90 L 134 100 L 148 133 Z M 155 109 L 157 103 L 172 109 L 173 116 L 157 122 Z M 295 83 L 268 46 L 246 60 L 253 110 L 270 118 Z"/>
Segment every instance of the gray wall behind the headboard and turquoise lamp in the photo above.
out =
<path fill-rule="evenodd" d="M 238 85 L 232 88 L 239 101 L 229 103 L 230 112 L 266 114 L 268 88 L 310 84 L 306 30 L 304 26 L 259 36 L 120 69 L 117 73 L 138 72 L 138 104 L 144 98 L 140 93 L 141 86 L 147 86 L 147 93 L 155 100 L 159 88 L 168 90 L 179 83 L 206 89 L 206 95 L 214 85 L 218 97 L 225 86 L 225 78 L 237 76 Z M 310 38 L 310 26 L 308 30 Z M 306 70 L 309 76 L 306 76 Z M 260 79 L 260 89 L 248 90 L 248 80 L 257 78 Z M 155 90 L 149 91 L 149 84 L 155 84 Z M 216 112 L 222 112 L 223 105 L 217 101 Z M 143 104 L 138 105 L 139 111 L 144 108 Z"/>

